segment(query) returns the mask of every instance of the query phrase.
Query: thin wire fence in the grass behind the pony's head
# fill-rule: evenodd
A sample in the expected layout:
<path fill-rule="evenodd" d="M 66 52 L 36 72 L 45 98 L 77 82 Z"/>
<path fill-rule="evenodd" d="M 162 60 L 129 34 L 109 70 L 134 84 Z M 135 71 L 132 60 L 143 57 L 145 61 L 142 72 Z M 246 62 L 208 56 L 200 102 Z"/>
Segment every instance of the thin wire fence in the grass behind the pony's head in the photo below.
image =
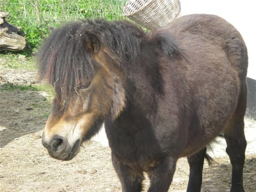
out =
<path fill-rule="evenodd" d="M 1 10 L 12 16 L 39 21 L 35 0 L 2 0 Z M 38 0 L 40 16 L 44 21 L 63 22 L 84 18 L 122 18 L 126 0 Z"/>

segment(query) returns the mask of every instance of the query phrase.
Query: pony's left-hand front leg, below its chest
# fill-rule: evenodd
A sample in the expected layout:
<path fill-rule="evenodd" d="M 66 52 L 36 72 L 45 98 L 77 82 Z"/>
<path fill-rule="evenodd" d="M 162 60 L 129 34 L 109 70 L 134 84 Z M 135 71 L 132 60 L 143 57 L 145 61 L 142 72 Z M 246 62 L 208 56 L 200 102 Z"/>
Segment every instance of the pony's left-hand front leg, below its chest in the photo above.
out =
<path fill-rule="evenodd" d="M 128 165 L 120 162 L 115 154 L 111 153 L 112 163 L 119 177 L 123 192 L 141 192 L 142 181 L 144 180 L 143 172 L 135 172 Z"/>

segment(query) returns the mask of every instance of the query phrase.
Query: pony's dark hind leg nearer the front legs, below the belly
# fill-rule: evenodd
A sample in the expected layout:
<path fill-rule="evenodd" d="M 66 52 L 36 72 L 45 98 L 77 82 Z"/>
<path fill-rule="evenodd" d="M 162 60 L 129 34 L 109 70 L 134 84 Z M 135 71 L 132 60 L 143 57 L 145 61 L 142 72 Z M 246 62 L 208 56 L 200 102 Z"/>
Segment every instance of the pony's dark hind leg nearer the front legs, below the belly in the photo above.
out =
<path fill-rule="evenodd" d="M 206 147 L 196 154 L 187 157 L 189 164 L 189 180 L 187 192 L 200 192 L 202 184 L 202 172 L 204 166 L 204 158 L 206 155 Z"/>

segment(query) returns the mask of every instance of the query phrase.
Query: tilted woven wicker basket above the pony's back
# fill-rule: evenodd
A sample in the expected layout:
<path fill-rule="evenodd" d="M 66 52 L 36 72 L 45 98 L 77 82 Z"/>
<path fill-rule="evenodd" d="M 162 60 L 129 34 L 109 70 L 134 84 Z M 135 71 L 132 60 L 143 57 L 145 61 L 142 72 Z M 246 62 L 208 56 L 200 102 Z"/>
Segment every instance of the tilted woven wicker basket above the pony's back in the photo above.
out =
<path fill-rule="evenodd" d="M 124 16 L 152 30 L 160 28 L 178 16 L 178 0 L 127 0 Z"/>

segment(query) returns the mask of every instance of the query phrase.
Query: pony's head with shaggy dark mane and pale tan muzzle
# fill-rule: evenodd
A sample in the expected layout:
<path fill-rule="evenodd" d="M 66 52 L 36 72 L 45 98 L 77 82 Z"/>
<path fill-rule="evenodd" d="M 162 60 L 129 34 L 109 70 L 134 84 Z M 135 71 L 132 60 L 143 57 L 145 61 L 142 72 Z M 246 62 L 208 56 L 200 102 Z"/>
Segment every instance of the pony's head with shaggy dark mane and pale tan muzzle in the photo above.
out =
<path fill-rule="evenodd" d="M 42 143 L 53 158 L 72 159 L 104 119 L 116 119 L 125 108 L 123 69 L 139 53 L 142 35 L 128 22 L 87 20 L 55 29 L 45 40 L 39 73 L 56 96 Z"/>

